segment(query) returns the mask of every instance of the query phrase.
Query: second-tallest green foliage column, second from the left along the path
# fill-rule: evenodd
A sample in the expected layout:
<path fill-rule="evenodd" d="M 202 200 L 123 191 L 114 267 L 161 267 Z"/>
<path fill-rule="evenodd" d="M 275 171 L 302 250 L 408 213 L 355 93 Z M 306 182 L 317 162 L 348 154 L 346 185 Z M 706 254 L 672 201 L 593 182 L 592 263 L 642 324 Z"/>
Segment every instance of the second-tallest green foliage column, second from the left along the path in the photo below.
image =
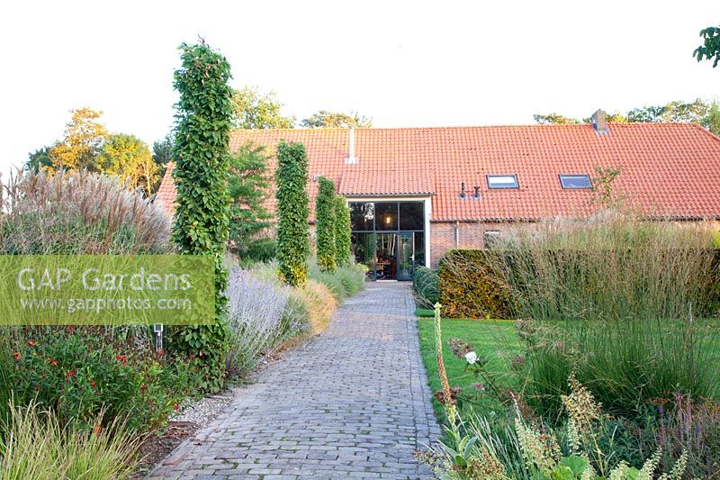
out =
<path fill-rule="evenodd" d="M 277 191 L 277 260 L 280 277 L 291 286 L 303 285 L 308 277 L 310 228 L 308 227 L 308 159 L 302 143 L 277 146 L 275 172 Z"/>

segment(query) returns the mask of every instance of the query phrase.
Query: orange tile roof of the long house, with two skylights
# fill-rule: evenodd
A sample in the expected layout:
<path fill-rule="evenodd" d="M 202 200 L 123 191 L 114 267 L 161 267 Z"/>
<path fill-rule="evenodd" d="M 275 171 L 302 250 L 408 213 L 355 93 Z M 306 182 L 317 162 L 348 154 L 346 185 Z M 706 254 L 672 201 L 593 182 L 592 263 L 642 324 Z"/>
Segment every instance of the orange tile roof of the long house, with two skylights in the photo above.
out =
<path fill-rule="evenodd" d="M 602 135 L 591 125 L 356 129 L 355 138 L 354 164 L 346 163 L 346 129 L 234 131 L 230 149 L 252 142 L 272 155 L 282 139 L 302 142 L 311 212 L 312 178 L 324 176 L 348 196 L 433 195 L 433 221 L 575 215 L 590 211 L 593 194 L 563 190 L 558 175 L 596 177 L 599 166 L 620 168 L 614 189 L 646 214 L 720 218 L 720 138 L 694 124 L 611 123 Z M 519 188 L 491 190 L 489 174 L 515 174 Z M 157 195 L 166 205 L 175 198 L 170 180 Z M 479 186 L 482 198 L 461 199 L 463 182 L 469 195 Z"/>

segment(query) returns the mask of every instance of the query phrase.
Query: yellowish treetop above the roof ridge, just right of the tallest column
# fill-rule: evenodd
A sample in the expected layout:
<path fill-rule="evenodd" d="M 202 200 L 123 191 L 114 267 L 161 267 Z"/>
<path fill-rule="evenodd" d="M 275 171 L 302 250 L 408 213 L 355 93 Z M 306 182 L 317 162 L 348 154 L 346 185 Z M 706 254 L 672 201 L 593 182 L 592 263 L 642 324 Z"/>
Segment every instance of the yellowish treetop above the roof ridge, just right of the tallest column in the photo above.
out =
<path fill-rule="evenodd" d="M 239 129 L 292 129 L 295 117 L 286 117 L 283 104 L 275 92 L 261 94 L 257 88 L 245 86 L 232 91 L 233 121 Z"/>

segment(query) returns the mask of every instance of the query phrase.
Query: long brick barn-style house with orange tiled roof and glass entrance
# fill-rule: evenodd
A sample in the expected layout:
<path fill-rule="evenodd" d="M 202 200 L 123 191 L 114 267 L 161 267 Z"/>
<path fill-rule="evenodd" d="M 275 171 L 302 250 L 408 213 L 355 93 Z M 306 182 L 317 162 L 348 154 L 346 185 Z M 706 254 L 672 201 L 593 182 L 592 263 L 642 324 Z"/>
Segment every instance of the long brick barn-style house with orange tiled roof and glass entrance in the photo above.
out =
<path fill-rule="evenodd" d="M 590 214 L 597 208 L 596 168 L 619 169 L 613 190 L 649 217 L 720 219 L 720 138 L 689 123 L 607 123 L 601 111 L 593 119 L 234 131 L 230 149 L 252 142 L 273 154 L 280 140 L 302 142 L 311 212 L 317 178 L 330 178 L 351 210 L 356 259 L 374 278 L 410 279 L 414 266 L 436 266 L 448 249 L 481 248 L 502 231 L 542 218 Z M 172 213 L 169 172 L 157 199 Z"/>

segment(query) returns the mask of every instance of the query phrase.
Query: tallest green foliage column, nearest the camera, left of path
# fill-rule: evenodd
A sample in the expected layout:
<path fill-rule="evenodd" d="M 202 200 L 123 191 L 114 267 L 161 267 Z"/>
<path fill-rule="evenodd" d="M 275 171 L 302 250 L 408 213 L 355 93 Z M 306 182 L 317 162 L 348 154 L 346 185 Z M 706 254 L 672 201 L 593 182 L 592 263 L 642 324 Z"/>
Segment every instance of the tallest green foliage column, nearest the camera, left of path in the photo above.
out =
<path fill-rule="evenodd" d="M 175 105 L 173 240 L 181 254 L 215 258 L 216 323 L 172 331 L 170 346 L 175 353 L 197 357 L 202 372 L 198 386 L 216 392 L 223 384 L 229 340 L 223 260 L 229 223 L 230 66 L 204 42 L 183 44 L 180 50 L 183 66 L 175 71 L 180 101 Z"/>

